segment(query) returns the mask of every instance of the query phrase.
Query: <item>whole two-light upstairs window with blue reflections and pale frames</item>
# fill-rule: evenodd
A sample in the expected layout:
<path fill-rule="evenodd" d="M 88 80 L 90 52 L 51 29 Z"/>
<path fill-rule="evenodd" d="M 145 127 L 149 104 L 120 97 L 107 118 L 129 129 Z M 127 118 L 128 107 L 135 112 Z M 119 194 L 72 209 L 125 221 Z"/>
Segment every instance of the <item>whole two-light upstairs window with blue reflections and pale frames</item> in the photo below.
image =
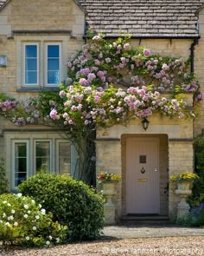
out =
<path fill-rule="evenodd" d="M 61 43 L 24 43 L 23 85 L 56 87 L 61 82 Z"/>

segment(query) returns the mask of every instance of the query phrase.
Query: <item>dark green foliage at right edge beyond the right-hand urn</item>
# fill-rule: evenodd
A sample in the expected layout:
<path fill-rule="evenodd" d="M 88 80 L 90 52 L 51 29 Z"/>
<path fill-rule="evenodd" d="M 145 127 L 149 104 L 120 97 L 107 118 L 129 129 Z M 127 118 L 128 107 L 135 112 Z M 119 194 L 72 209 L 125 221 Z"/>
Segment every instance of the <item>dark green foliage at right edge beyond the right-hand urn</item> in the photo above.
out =
<path fill-rule="evenodd" d="M 194 171 L 200 179 L 194 182 L 192 194 L 188 198 L 191 207 L 204 201 L 204 138 L 198 136 L 194 141 Z"/>

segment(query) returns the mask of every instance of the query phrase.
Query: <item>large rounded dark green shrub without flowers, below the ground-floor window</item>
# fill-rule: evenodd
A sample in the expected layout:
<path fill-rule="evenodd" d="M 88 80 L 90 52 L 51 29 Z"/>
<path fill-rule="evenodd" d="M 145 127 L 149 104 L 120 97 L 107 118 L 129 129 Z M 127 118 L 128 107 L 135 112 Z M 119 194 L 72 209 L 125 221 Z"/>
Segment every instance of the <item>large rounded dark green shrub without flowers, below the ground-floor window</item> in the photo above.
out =
<path fill-rule="evenodd" d="M 32 196 L 54 220 L 67 225 L 69 240 L 90 240 L 104 225 L 104 199 L 82 181 L 68 175 L 36 174 L 18 187 Z"/>

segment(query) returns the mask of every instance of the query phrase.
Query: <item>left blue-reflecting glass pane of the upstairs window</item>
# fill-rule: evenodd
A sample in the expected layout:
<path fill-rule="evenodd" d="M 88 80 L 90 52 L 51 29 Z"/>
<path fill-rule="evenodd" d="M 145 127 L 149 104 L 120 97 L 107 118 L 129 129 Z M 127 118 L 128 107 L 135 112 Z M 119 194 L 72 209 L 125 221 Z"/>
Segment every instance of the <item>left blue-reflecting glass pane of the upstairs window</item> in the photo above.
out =
<path fill-rule="evenodd" d="M 38 85 L 39 71 L 38 71 L 38 45 L 26 44 L 25 45 L 25 84 L 26 85 Z"/>

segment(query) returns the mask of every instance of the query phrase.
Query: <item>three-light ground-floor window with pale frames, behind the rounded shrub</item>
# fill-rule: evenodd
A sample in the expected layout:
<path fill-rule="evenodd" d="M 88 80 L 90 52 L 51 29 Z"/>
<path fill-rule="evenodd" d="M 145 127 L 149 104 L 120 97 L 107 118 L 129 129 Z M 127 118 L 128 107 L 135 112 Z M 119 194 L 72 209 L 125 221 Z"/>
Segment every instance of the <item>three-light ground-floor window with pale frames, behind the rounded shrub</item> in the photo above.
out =
<path fill-rule="evenodd" d="M 12 188 L 37 173 L 73 175 L 76 170 L 76 152 L 69 143 L 61 139 L 39 140 L 35 137 L 11 139 Z"/>

